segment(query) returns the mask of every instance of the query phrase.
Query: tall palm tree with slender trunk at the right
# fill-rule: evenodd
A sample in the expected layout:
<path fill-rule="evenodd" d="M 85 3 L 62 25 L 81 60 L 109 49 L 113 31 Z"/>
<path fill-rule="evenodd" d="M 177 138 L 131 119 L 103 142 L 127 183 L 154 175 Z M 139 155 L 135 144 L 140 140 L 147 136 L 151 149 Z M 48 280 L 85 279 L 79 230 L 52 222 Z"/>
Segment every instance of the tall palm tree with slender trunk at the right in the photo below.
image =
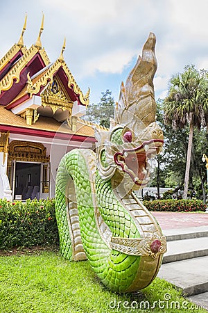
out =
<path fill-rule="evenodd" d="M 187 199 L 193 128 L 208 125 L 208 75 L 205 70 L 196 70 L 194 65 L 184 67 L 170 81 L 168 97 L 164 99 L 164 118 L 173 129 L 182 129 L 189 125 L 189 142 L 184 178 L 184 199 Z"/>

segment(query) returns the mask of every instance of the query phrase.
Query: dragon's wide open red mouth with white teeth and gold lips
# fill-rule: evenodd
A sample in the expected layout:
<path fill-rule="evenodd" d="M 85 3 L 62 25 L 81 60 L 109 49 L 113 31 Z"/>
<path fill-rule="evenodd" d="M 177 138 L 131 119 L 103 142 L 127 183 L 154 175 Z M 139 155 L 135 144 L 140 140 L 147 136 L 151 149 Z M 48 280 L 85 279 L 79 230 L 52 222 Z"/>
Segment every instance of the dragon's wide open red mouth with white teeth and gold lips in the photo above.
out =
<path fill-rule="evenodd" d="M 137 186 L 146 186 L 150 181 L 150 165 L 148 159 L 154 158 L 162 150 L 164 141 L 152 139 L 139 147 L 125 149 L 114 154 L 114 161 L 128 173 Z"/>

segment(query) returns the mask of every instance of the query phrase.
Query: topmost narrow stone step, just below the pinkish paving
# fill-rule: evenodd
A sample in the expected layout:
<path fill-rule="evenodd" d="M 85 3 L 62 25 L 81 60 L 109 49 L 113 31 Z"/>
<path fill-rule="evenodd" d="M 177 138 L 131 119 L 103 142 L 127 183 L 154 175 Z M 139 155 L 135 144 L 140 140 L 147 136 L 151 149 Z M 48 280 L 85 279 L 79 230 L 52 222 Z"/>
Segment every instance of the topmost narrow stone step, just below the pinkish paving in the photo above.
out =
<path fill-rule="evenodd" d="M 164 230 L 167 241 L 193 239 L 208 236 L 208 226 Z"/>

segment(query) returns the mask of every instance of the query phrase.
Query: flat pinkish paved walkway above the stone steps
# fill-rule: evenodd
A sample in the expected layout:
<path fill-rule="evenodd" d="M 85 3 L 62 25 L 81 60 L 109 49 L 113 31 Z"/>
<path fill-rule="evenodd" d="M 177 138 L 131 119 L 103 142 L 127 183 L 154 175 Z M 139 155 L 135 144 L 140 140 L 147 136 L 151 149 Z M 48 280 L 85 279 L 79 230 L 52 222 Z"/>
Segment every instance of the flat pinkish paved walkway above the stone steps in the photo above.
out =
<path fill-rule="evenodd" d="M 208 213 L 151 212 L 162 230 L 208 226 Z"/>

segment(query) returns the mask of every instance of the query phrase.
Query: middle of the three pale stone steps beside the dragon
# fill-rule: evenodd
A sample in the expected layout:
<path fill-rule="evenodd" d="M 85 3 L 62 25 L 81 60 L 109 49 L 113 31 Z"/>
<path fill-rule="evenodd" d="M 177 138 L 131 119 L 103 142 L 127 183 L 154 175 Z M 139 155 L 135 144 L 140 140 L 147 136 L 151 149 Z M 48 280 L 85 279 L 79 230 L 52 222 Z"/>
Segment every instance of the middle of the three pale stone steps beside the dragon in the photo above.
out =
<path fill-rule="evenodd" d="M 167 242 L 163 264 L 208 255 L 208 236 Z"/>

